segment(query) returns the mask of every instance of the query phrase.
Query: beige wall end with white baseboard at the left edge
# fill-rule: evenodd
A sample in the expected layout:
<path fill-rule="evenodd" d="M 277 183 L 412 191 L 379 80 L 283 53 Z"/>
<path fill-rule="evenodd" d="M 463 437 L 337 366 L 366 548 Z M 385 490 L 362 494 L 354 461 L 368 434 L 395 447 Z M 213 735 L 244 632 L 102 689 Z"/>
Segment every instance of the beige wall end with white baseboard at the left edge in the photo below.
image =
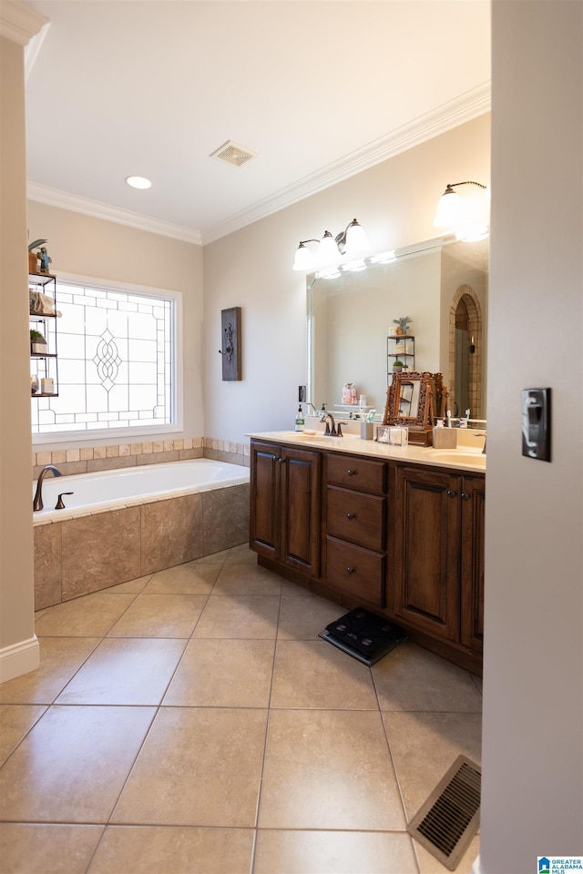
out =
<path fill-rule="evenodd" d="M 0 680 L 38 666 L 33 616 L 24 48 L 0 36 Z"/>

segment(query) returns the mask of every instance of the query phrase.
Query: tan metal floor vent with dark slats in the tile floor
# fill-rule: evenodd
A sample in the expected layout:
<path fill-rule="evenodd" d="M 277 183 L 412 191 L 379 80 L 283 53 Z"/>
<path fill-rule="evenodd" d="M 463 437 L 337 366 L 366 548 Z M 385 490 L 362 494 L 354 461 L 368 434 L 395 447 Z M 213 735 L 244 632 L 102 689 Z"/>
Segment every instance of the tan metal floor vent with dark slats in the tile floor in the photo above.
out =
<path fill-rule="evenodd" d="M 480 824 L 481 783 L 476 762 L 458 756 L 407 825 L 409 834 L 450 871 Z"/>

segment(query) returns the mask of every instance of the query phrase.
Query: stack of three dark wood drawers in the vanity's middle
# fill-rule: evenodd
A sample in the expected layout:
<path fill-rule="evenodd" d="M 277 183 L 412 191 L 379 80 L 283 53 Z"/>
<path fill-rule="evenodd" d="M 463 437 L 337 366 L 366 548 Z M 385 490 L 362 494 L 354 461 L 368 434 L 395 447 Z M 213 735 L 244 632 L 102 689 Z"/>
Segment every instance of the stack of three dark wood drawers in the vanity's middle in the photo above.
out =
<path fill-rule="evenodd" d="M 330 453 L 326 482 L 327 583 L 384 607 L 387 464 Z"/>

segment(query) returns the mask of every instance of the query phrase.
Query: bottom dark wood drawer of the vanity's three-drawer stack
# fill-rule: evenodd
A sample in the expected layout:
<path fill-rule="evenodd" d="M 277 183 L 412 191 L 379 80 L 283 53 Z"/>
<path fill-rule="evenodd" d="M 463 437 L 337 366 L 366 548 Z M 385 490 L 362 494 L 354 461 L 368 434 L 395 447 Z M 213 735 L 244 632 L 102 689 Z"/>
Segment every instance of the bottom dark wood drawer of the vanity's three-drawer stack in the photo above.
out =
<path fill-rule="evenodd" d="M 329 537 L 328 583 L 384 607 L 384 555 Z"/>

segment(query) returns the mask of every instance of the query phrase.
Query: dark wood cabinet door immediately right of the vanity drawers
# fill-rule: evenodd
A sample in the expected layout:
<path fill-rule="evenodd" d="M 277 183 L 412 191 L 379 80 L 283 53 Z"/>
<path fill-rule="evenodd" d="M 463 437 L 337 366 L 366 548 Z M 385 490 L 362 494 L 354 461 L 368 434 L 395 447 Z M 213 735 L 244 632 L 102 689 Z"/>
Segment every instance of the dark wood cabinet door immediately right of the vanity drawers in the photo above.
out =
<path fill-rule="evenodd" d="M 399 467 L 394 612 L 420 631 L 459 640 L 461 477 Z"/>

